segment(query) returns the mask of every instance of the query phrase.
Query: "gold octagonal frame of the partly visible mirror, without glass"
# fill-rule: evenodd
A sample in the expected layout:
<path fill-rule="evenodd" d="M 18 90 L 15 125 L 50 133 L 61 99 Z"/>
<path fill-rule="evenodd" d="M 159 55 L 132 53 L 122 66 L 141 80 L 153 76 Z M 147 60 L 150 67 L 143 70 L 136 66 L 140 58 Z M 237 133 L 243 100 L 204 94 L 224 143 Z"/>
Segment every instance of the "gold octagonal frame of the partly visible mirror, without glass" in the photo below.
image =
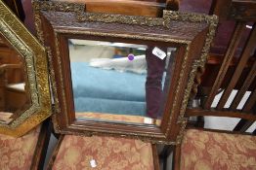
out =
<path fill-rule="evenodd" d="M 25 62 L 31 105 L 9 124 L 0 124 L 0 134 L 19 137 L 51 116 L 46 51 L 0 0 L 0 31 Z"/>

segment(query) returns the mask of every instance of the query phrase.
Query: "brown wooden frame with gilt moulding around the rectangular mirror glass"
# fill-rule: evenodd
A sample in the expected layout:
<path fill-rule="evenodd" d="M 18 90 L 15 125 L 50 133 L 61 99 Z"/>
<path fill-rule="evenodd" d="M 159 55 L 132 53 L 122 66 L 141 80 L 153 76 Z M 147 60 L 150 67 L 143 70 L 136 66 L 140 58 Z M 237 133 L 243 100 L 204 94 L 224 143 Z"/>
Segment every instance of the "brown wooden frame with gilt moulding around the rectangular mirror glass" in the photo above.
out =
<path fill-rule="evenodd" d="M 53 121 L 56 132 L 139 138 L 169 145 L 181 142 L 188 121 L 184 114 L 192 88 L 196 88 L 195 75 L 203 69 L 215 35 L 216 16 L 172 11 L 164 11 L 163 17 L 90 14 L 84 12 L 84 4 L 51 1 L 34 1 L 33 7 L 38 38 L 48 49 L 55 95 Z M 67 39 L 81 37 L 153 42 L 178 49 L 160 126 L 78 121 L 74 118 Z"/>

